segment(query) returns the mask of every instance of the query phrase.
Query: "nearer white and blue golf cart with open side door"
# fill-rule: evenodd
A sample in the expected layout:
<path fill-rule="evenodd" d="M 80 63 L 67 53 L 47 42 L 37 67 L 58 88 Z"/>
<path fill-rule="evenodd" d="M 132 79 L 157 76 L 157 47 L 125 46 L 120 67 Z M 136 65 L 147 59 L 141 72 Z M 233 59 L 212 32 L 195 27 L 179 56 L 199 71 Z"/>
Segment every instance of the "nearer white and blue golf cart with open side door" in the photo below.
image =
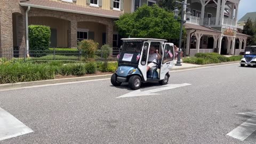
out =
<path fill-rule="evenodd" d="M 133 90 L 140 89 L 141 83 L 159 82 L 165 85 L 169 80 L 169 70 L 173 67 L 174 45 L 165 43 L 165 39 L 123 38 L 121 53 L 118 57 L 118 68 L 111 76 L 111 83 L 119 86 L 128 82 Z M 147 71 L 149 47 L 158 50 L 161 59 L 157 66 Z"/>

